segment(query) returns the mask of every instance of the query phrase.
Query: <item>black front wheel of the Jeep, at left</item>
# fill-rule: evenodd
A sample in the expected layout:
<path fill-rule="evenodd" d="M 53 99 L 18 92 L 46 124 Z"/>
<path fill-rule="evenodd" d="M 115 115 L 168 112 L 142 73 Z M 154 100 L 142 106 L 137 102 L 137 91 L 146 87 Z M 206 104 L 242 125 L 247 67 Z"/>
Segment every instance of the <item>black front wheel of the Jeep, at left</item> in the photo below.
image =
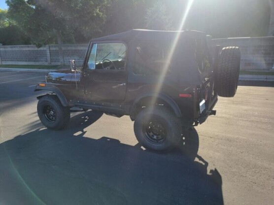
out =
<path fill-rule="evenodd" d="M 40 98 L 37 114 L 43 125 L 52 130 L 61 130 L 69 124 L 69 107 L 64 107 L 56 95 Z"/>

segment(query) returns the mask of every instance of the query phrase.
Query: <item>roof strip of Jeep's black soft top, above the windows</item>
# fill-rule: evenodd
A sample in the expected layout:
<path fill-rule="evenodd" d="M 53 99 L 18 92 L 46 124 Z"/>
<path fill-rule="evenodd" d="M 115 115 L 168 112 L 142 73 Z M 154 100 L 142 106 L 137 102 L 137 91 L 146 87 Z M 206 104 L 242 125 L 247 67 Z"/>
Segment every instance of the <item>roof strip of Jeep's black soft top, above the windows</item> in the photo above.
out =
<path fill-rule="evenodd" d="M 121 41 L 130 41 L 130 40 L 172 40 L 176 37 L 183 36 L 201 36 L 206 35 L 203 32 L 198 31 L 153 31 L 153 30 L 142 30 L 142 29 L 133 29 L 127 32 L 107 35 L 103 37 L 98 37 L 92 39 L 92 41 L 109 41 L 109 40 L 121 40 Z"/>

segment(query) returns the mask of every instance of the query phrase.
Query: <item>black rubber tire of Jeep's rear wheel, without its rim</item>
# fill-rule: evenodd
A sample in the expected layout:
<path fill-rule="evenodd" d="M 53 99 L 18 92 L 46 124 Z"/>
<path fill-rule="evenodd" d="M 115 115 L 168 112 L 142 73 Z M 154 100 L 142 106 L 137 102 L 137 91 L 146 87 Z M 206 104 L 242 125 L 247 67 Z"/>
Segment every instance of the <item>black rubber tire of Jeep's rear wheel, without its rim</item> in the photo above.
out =
<path fill-rule="evenodd" d="M 145 127 L 151 121 L 157 121 L 165 128 L 164 140 L 156 143 L 147 137 Z M 143 147 L 160 152 L 171 150 L 178 144 L 182 136 L 182 126 L 180 119 L 171 110 L 163 106 L 154 106 L 144 108 L 138 113 L 134 122 L 134 132 Z"/>

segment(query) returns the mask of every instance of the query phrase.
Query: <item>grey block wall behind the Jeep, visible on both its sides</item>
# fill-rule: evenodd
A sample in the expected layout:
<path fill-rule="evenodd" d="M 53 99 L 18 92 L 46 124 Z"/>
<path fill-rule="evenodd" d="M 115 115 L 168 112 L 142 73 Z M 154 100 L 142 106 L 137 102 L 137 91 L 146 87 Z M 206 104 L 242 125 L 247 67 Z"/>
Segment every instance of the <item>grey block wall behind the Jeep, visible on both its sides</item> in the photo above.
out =
<path fill-rule="evenodd" d="M 241 69 L 271 70 L 274 67 L 274 37 L 244 37 L 212 39 L 213 45 L 239 46 Z M 84 61 L 88 44 L 66 44 L 36 48 L 34 45 L 0 46 L 0 64 L 69 65 L 74 59 L 77 66 Z"/>

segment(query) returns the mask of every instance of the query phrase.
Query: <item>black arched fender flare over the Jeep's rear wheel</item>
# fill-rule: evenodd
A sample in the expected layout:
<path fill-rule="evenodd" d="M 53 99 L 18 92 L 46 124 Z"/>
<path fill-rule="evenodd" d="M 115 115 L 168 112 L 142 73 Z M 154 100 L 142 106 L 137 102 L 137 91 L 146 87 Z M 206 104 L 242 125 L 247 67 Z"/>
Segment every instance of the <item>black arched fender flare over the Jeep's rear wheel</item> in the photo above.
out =
<path fill-rule="evenodd" d="M 140 97 L 138 97 L 134 102 L 133 102 L 133 106 L 132 109 L 130 111 L 130 116 L 135 116 L 135 110 L 136 110 L 136 105 L 138 102 L 140 102 L 142 99 L 145 98 L 156 98 L 156 99 L 161 99 L 164 102 L 167 102 L 167 104 L 171 107 L 171 109 L 173 110 L 173 112 L 175 113 L 175 115 L 177 117 L 182 117 L 182 113 L 180 108 L 178 107 L 178 105 L 176 104 L 176 102 L 173 101 L 173 99 L 171 97 L 169 97 L 166 94 L 155 94 L 155 93 L 150 93 L 150 94 L 145 94 L 142 95 Z"/>

